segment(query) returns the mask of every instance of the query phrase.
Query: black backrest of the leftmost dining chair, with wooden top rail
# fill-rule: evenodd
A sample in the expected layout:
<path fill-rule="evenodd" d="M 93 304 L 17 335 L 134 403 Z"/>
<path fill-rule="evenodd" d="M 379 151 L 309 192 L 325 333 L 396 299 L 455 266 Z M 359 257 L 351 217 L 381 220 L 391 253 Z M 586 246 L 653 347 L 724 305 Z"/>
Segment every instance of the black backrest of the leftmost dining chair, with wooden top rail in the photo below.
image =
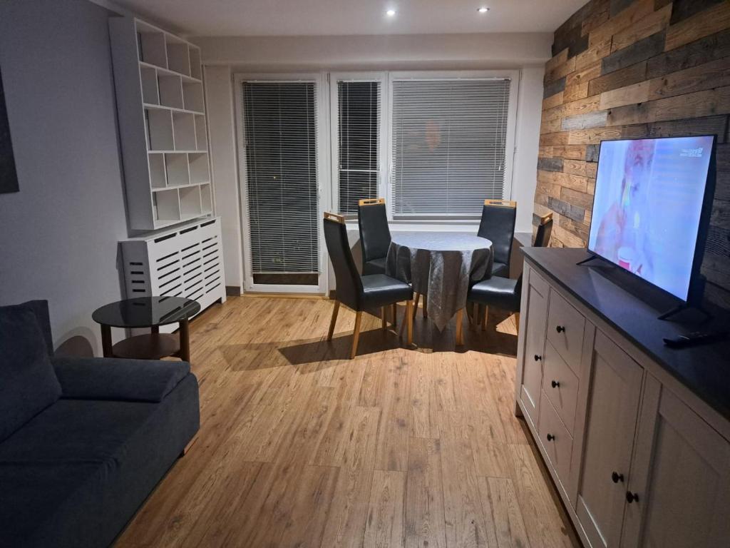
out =
<path fill-rule="evenodd" d="M 355 266 L 353 253 L 350 251 L 345 217 L 335 213 L 324 214 L 324 240 L 334 267 L 337 300 L 353 310 L 358 310 L 362 300 L 363 283 Z"/>

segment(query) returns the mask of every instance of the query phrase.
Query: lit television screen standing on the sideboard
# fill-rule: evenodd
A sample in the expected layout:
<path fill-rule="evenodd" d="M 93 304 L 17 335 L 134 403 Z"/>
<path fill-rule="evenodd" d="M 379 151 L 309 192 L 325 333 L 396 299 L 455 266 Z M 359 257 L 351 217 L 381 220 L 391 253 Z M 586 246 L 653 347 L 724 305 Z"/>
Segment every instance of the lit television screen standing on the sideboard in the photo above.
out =
<path fill-rule="evenodd" d="M 714 139 L 602 142 L 588 251 L 686 301 Z"/>

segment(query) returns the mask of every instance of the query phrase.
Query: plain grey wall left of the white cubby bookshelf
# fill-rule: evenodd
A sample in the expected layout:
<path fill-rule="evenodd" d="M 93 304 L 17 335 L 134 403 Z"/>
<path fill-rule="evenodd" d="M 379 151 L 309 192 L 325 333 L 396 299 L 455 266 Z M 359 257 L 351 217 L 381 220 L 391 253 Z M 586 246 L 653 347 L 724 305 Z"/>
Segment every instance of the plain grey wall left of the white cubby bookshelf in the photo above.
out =
<path fill-rule="evenodd" d="M 49 300 L 56 346 L 84 335 L 97 354 L 91 313 L 121 296 L 127 237 L 109 15 L 87 0 L 0 2 L 20 183 L 0 194 L 0 304 Z"/>

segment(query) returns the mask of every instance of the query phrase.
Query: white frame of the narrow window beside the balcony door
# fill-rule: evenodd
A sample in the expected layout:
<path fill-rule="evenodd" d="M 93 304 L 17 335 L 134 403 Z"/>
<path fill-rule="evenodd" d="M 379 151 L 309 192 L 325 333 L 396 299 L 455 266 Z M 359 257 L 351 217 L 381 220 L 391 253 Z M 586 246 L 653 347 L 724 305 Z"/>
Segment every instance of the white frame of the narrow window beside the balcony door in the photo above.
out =
<path fill-rule="evenodd" d="M 337 83 L 339 82 L 378 82 L 380 83 L 380 128 L 378 128 L 377 153 L 377 197 L 385 197 L 388 190 L 387 168 L 388 168 L 388 128 L 390 121 L 385 116 L 390 113 L 388 109 L 388 72 L 385 71 L 359 71 L 359 72 L 329 72 L 329 126 L 330 126 L 330 164 L 331 164 L 331 194 L 330 204 L 333 210 L 339 213 L 339 95 Z M 347 220 L 357 220 L 357 215 L 345 215 Z"/>

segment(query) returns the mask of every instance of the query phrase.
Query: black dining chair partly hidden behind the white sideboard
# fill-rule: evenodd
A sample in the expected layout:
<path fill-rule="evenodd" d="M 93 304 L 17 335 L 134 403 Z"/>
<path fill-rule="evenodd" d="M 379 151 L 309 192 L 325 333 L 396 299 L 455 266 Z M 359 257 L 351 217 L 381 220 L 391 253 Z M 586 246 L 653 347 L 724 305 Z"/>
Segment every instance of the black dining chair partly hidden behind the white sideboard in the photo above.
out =
<path fill-rule="evenodd" d="M 553 213 L 540 217 L 535 233 L 534 247 L 548 247 L 550 234 L 553 232 Z M 496 306 L 504 311 L 515 313 L 517 330 L 520 331 L 520 300 L 522 298 L 522 275 L 516 280 L 493 276 L 475 283 L 466 297 L 467 302 L 484 306 L 482 330 L 487 328 L 487 316 L 490 306 Z M 477 310 L 477 307 L 475 307 Z"/>

